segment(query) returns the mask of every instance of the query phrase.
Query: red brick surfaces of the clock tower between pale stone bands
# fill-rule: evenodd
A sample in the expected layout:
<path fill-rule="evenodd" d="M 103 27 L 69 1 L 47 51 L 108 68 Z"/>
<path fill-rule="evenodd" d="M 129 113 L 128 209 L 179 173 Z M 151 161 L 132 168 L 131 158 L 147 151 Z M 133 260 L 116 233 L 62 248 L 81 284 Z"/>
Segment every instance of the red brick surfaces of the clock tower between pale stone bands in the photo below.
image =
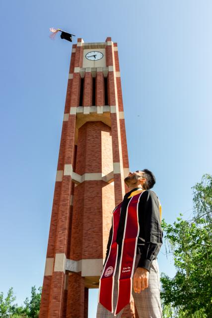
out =
<path fill-rule="evenodd" d="M 77 42 L 81 42 L 78 39 Z M 108 37 L 106 42 L 111 41 Z M 116 105 L 117 113 L 111 113 L 111 127 L 101 121 L 89 121 L 76 129 L 77 116 L 70 114 L 71 107 L 79 106 L 80 74 L 74 68 L 82 67 L 83 46 L 73 44 L 75 52 L 71 54 L 69 72 L 73 79 L 68 80 L 64 113 L 69 120 L 63 122 L 58 170 L 64 170 L 65 164 L 71 164 L 73 171 L 84 173 L 104 173 L 113 171 L 113 162 L 129 167 L 127 140 L 124 119 L 119 119 L 118 110 L 123 111 L 121 79 L 114 78 L 119 72 L 118 51 L 113 52 L 117 43 L 106 45 L 106 65 L 113 66 L 108 73 L 108 104 Z M 83 105 L 92 106 L 92 76 L 85 73 Z M 104 105 L 104 78 L 102 72 L 96 74 L 96 105 Z M 84 117 L 85 118 L 85 117 Z M 78 136 L 78 137 L 77 137 Z M 78 139 L 77 139 L 78 138 Z M 71 175 L 63 175 L 62 181 L 55 182 L 55 191 L 50 222 L 47 257 L 55 262 L 56 253 L 64 253 L 72 260 L 104 258 L 111 228 L 112 211 L 123 198 L 125 188 L 123 173 L 114 174 L 114 185 L 103 180 L 84 181 L 77 186 Z M 73 196 L 73 206 L 71 204 Z M 92 244 L 91 244 L 92 242 Z M 40 318 L 87 318 L 88 289 L 84 285 L 81 272 L 69 275 L 68 290 L 64 289 L 64 272 L 55 272 L 44 276 L 40 306 Z M 130 304 L 124 314 L 126 318 L 135 318 L 134 306 Z"/>

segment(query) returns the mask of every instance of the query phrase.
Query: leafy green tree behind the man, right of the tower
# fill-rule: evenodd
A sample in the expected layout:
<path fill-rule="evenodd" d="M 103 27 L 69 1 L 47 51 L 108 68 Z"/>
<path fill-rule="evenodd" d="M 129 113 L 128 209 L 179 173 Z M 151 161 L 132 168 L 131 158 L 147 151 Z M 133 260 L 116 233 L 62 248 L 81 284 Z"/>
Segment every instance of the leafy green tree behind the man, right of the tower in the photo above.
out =
<path fill-rule="evenodd" d="M 212 176 L 205 174 L 193 191 L 190 221 L 182 214 L 173 225 L 162 220 L 176 267 L 174 278 L 161 273 L 164 318 L 212 317 Z"/>

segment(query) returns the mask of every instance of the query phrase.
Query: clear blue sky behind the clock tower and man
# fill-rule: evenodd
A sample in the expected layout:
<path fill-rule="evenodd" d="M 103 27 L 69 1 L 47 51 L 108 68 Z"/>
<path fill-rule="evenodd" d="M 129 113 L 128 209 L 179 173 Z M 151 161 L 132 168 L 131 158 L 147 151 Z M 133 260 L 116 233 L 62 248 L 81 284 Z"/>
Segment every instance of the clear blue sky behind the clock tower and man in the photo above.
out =
<path fill-rule="evenodd" d="M 210 0 L 1 1 L 0 291 L 18 304 L 43 283 L 71 43 L 118 42 L 131 170 L 155 173 L 163 217 L 189 218 L 212 173 Z M 74 39 L 75 40 L 75 39 Z M 139 116 L 138 116 L 139 115 Z M 165 243 L 161 272 L 173 277 Z M 97 290 L 89 294 L 95 317 Z"/>

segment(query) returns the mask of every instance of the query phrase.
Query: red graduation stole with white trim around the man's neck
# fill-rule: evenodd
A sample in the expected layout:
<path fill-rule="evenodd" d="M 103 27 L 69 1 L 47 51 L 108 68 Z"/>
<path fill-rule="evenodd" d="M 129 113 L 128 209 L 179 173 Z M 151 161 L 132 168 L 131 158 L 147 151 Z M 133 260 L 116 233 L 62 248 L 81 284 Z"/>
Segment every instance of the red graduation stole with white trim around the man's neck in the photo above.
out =
<path fill-rule="evenodd" d="M 145 191 L 145 190 L 144 190 Z M 114 315 L 116 316 L 130 303 L 132 294 L 132 279 L 136 260 L 137 241 L 139 237 L 138 206 L 142 193 L 134 195 L 127 207 L 125 229 L 122 241 L 122 252 L 118 276 L 118 300 Z M 122 202 L 113 211 L 113 237 L 107 261 L 99 281 L 99 303 L 113 313 L 114 276 L 118 258 L 116 242 Z"/>

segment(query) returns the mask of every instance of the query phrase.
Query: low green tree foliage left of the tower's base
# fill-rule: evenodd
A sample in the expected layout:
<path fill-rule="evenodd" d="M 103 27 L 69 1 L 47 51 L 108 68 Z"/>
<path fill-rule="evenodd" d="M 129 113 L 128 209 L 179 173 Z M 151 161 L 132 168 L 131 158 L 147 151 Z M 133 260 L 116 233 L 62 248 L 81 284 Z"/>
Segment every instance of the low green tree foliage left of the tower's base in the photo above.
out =
<path fill-rule="evenodd" d="M 3 293 L 0 293 L 0 318 L 38 318 L 40 310 L 42 287 L 36 292 L 35 286 L 31 289 L 31 299 L 28 297 L 24 301 L 24 307 L 18 307 L 14 304 L 16 297 L 13 294 L 13 288 L 9 288 L 7 296 L 3 299 Z"/>

